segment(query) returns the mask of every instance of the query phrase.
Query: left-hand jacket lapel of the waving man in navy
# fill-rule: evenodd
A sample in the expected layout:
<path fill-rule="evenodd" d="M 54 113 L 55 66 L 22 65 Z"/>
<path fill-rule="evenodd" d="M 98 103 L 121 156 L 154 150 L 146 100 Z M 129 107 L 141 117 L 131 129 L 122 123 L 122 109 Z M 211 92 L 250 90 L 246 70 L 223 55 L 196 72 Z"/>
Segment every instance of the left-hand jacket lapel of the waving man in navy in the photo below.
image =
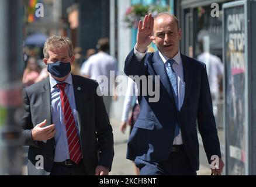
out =
<path fill-rule="evenodd" d="M 162 59 L 159 56 L 158 51 L 154 53 L 152 60 L 154 62 L 154 69 L 157 72 L 157 75 L 160 76 L 160 81 L 162 82 L 162 85 L 164 85 L 164 88 L 169 93 L 169 96 L 171 96 L 171 98 L 174 99 L 172 95 L 171 82 L 169 82 L 169 77 L 167 75 L 167 72 L 165 71 L 164 63 L 162 62 Z"/>

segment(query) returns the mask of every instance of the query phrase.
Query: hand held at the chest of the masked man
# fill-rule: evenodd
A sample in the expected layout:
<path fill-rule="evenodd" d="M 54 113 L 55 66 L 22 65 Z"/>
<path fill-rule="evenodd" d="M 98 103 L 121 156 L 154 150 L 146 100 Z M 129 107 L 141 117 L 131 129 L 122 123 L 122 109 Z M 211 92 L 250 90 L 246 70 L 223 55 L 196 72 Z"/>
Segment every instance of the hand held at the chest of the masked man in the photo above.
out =
<path fill-rule="evenodd" d="M 55 125 L 43 127 L 46 125 L 46 120 L 37 124 L 34 129 L 32 129 L 32 140 L 33 141 L 46 141 L 54 137 L 56 130 Z"/>

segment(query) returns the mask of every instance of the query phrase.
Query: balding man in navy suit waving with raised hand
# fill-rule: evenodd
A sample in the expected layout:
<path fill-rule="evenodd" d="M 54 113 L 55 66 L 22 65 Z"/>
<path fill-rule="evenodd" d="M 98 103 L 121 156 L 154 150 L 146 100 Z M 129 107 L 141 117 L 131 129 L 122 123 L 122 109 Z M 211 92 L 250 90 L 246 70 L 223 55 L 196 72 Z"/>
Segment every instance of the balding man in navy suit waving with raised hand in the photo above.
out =
<path fill-rule="evenodd" d="M 174 15 L 146 15 L 139 22 L 136 46 L 125 61 L 127 76 L 153 75 L 153 80 L 160 76 L 159 101 L 150 102 L 149 95 L 141 94 L 144 84 L 139 87 L 141 112 L 127 147 L 127 158 L 141 175 L 196 175 L 196 120 L 209 164 L 213 162 L 212 172 L 221 174 L 224 167 L 206 66 L 180 53 L 181 36 Z M 146 53 L 151 41 L 158 51 Z"/>

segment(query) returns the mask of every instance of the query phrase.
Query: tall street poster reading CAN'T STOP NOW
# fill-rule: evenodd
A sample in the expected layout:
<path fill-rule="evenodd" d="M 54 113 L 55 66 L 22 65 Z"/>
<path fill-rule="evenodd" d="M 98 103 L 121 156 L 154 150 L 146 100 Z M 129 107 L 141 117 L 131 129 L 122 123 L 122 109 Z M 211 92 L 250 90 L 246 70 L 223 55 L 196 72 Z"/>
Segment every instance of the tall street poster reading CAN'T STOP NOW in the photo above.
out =
<path fill-rule="evenodd" d="M 224 9 L 226 164 L 228 175 L 245 175 L 245 12 Z"/>

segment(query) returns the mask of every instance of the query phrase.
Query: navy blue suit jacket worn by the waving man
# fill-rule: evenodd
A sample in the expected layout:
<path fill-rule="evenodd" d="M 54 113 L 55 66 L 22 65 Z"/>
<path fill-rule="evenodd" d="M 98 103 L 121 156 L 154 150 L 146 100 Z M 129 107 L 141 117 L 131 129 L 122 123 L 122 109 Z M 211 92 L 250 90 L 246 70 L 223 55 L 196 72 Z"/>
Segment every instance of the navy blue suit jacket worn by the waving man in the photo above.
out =
<path fill-rule="evenodd" d="M 181 110 L 178 111 L 171 83 L 158 51 L 147 53 L 141 61 L 137 61 L 134 50 L 127 56 L 124 65 L 127 76 L 153 75 L 154 82 L 154 75 L 160 75 L 158 102 L 149 102 L 150 96 L 142 95 L 142 85 L 140 85 L 138 99 L 141 109 L 130 134 L 127 147 L 128 159 L 140 158 L 153 162 L 168 160 L 174 140 L 176 120 L 181 129 L 185 152 L 193 169 L 199 169 L 196 120 L 209 163 L 212 155 L 221 157 L 206 65 L 182 54 L 181 58 L 184 68 L 185 98 Z"/>

